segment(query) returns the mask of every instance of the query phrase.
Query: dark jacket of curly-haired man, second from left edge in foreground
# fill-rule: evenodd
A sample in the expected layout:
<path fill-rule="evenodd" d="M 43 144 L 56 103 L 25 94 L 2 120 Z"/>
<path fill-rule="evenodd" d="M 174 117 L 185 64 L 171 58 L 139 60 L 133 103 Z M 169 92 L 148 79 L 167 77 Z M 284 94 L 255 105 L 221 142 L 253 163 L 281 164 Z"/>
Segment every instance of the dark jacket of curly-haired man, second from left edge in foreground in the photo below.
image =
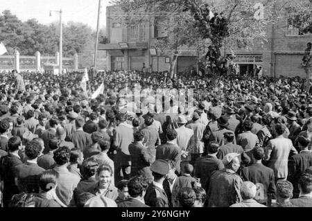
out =
<path fill-rule="evenodd" d="M 39 178 L 42 172 L 44 172 L 44 168 L 35 163 L 26 162 L 15 166 L 19 192 L 39 193 Z"/>

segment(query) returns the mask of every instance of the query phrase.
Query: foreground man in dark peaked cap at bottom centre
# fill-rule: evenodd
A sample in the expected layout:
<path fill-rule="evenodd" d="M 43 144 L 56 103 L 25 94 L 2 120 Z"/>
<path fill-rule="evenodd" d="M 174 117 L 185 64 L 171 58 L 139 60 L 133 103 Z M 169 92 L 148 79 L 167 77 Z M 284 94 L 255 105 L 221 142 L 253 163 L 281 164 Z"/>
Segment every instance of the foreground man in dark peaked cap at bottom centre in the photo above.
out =
<path fill-rule="evenodd" d="M 146 189 L 144 200 L 151 207 L 169 207 L 168 197 L 164 191 L 163 182 L 169 172 L 168 162 L 157 159 L 151 166 L 154 181 Z"/>

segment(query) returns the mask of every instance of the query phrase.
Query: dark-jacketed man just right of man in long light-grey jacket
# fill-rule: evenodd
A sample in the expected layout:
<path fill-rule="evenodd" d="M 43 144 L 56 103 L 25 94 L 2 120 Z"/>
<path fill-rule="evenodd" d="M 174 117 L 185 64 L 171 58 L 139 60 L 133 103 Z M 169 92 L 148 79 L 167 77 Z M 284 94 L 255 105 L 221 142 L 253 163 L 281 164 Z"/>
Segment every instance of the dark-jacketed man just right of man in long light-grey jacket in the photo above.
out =
<path fill-rule="evenodd" d="M 148 182 L 152 182 L 153 175 L 150 170 L 150 164 L 153 163 L 155 158 L 143 144 L 144 132 L 135 132 L 134 138 L 135 141 L 129 145 L 131 156 L 131 177 L 134 177 L 135 175 L 143 175 L 148 179 Z"/>

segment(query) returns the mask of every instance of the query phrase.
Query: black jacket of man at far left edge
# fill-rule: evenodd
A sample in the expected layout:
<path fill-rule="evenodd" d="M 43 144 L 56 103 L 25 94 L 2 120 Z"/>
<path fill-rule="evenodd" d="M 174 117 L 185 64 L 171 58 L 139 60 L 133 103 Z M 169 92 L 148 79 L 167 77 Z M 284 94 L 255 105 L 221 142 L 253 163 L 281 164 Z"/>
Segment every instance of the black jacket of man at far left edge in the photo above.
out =
<path fill-rule="evenodd" d="M 8 154 L 6 157 L 0 159 L 0 177 L 3 181 L 3 204 L 8 206 L 13 195 L 19 193 L 17 186 L 15 186 L 15 166 L 23 164 L 21 160 L 15 155 Z"/>

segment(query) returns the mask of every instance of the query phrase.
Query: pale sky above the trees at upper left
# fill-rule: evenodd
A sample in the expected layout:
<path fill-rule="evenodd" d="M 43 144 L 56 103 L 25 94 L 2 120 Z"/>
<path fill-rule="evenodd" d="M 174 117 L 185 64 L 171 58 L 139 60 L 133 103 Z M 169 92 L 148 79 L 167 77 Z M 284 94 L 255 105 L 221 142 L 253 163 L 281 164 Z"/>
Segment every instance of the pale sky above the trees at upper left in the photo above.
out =
<path fill-rule="evenodd" d="M 110 0 L 102 0 L 100 27 L 106 25 L 106 6 Z M 0 0 L 0 12 L 10 10 L 21 21 L 37 19 L 41 24 L 59 21 L 56 12 L 49 16 L 50 10 L 62 9 L 62 20 L 88 24 L 96 30 L 98 16 L 98 0 Z"/>

